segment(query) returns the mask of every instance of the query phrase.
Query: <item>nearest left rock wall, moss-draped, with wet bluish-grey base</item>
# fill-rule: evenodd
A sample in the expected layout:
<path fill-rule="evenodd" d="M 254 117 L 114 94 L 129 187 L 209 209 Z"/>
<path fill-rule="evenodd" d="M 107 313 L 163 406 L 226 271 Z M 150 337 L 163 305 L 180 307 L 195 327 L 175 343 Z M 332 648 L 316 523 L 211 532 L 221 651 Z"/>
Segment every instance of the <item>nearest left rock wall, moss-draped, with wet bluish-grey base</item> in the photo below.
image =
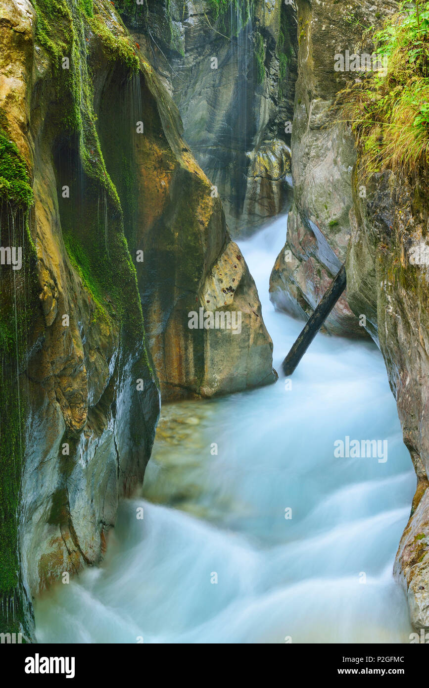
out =
<path fill-rule="evenodd" d="M 12 400 L 2 398 L 2 430 L 14 407 L 19 418 L 15 481 L 4 436 L 1 447 L 3 566 L 7 550 L 19 548 L 19 561 L 1 571 L 1 630 L 30 638 L 30 596 L 100 561 L 119 497 L 142 481 L 159 414 L 135 268 L 85 72 L 90 65 L 101 84 L 118 64 L 125 76 L 133 51 L 120 33 L 109 33 L 109 48 L 98 41 L 94 29 L 111 10 L 97 10 L 87 17 L 78 4 L 58 5 L 38 10 L 36 21 L 25 0 L 0 5 L 2 131 L 28 169 L 34 201 L 25 212 L 10 195 L 2 208 L 2 244 L 20 246 L 25 259 L 17 277 L 1 268 L 3 378 L 14 381 Z M 68 74 L 58 66 L 63 51 Z"/>

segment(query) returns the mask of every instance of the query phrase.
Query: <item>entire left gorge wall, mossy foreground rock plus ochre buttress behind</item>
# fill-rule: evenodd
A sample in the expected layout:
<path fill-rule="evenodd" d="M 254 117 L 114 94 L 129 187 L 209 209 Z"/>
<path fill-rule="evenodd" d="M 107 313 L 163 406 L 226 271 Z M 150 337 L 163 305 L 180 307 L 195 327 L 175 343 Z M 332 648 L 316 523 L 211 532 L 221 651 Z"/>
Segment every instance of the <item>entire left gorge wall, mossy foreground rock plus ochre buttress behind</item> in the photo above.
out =
<path fill-rule="evenodd" d="M 142 482 L 159 385 L 276 375 L 221 202 L 112 4 L 8 0 L 0 17 L 1 245 L 23 252 L 0 275 L 0 630 L 31 638 L 32 594 L 100 561 Z M 199 308 L 241 312 L 241 332 L 190 329 Z"/>

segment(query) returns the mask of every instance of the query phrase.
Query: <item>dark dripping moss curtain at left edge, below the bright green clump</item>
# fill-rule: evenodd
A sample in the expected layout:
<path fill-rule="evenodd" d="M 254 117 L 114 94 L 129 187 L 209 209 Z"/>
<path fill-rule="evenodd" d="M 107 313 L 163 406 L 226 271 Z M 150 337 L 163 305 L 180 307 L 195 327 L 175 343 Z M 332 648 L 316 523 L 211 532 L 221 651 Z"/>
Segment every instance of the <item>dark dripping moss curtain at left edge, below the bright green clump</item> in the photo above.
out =
<path fill-rule="evenodd" d="M 23 621 L 17 541 L 27 395 L 21 370 L 38 308 L 36 257 L 25 207 L 29 202 L 27 190 L 24 202 L 21 197 L 9 197 L 0 208 L 2 245 L 20 246 L 23 252 L 21 270 L 0 268 L 0 625 L 2 631 L 10 632 L 19 630 Z M 1 618 L 1 610 L 8 610 L 6 619 Z"/>

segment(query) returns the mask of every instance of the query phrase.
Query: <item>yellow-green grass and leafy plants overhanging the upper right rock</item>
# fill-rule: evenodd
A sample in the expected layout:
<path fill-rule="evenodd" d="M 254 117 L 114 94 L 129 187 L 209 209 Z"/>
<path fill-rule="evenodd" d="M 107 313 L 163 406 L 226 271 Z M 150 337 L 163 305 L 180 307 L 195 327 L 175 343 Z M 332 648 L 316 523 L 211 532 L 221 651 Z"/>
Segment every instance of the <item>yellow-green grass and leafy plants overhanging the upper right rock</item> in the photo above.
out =
<path fill-rule="evenodd" d="M 362 171 L 415 173 L 429 162 L 429 2 L 400 10 L 373 33 L 386 69 L 369 72 L 338 98 L 360 148 Z"/>

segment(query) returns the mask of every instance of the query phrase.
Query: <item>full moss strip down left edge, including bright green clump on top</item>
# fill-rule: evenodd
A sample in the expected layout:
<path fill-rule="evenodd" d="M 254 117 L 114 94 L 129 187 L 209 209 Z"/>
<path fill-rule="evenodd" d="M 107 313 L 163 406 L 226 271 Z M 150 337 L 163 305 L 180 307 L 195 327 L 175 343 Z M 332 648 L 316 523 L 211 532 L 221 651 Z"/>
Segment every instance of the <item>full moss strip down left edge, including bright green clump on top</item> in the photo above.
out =
<path fill-rule="evenodd" d="M 15 272 L 0 266 L 0 619 L 1 630 L 19 630 L 19 558 L 17 548 L 19 486 L 23 462 L 25 400 L 20 370 L 32 319 L 34 244 L 28 211 L 34 202 L 30 175 L 17 145 L 10 139 L 0 109 L 0 217 L 2 246 L 20 247 L 23 266 Z M 30 275 L 25 284 L 20 275 Z M 10 616 L 9 616 L 10 614 Z"/>

